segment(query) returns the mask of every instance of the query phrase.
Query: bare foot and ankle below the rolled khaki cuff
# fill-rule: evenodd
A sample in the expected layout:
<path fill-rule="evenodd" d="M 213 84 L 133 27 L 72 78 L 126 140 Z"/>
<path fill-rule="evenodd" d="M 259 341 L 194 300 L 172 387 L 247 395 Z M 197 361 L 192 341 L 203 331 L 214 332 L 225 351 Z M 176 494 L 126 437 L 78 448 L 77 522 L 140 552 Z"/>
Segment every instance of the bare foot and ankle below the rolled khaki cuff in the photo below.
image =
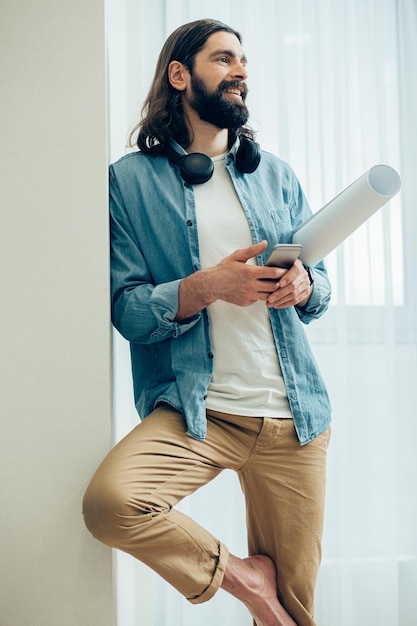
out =
<path fill-rule="evenodd" d="M 257 626 L 297 626 L 277 598 L 273 561 L 264 555 L 229 555 L 222 588 L 241 600 Z"/>

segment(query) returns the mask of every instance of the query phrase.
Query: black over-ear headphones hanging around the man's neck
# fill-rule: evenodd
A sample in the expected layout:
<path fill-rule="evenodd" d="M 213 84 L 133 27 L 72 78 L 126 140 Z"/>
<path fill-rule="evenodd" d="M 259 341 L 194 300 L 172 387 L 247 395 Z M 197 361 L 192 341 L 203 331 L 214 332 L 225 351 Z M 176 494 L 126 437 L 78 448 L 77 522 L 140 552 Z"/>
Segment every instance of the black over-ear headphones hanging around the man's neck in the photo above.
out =
<path fill-rule="evenodd" d="M 171 146 L 164 146 L 164 153 L 171 163 L 180 167 L 183 180 L 190 185 L 201 185 L 213 176 L 214 164 L 207 154 L 192 152 L 180 154 Z M 256 141 L 242 136 L 236 151 L 235 165 L 242 174 L 252 174 L 261 161 L 261 147 Z"/>

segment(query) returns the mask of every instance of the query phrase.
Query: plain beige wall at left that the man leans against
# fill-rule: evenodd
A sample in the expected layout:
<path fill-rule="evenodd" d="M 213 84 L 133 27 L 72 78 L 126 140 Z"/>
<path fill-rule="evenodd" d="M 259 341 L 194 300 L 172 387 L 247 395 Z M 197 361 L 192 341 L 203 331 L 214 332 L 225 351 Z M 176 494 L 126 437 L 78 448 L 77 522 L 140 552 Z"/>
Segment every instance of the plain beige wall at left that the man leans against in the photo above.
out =
<path fill-rule="evenodd" d="M 0 624 L 110 626 L 104 2 L 3 3 L 0 66 Z"/>

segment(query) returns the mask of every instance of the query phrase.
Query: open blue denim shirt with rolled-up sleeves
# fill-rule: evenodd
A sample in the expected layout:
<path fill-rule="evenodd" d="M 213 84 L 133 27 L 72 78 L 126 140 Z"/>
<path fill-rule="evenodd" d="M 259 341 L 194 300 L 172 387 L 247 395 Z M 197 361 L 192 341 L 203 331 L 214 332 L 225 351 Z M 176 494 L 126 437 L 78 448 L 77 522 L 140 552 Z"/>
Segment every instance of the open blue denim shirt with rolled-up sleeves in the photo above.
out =
<path fill-rule="evenodd" d="M 262 152 L 258 169 L 226 167 L 246 214 L 253 241 L 268 241 L 263 264 L 276 243 L 289 243 L 311 210 L 291 168 Z M 165 156 L 142 152 L 110 166 L 112 321 L 130 342 L 135 403 L 146 417 L 160 402 L 184 414 L 187 430 L 206 435 L 206 394 L 213 368 L 206 310 L 176 321 L 183 278 L 200 269 L 193 186 Z M 269 309 L 282 375 L 301 444 L 330 423 L 328 395 L 302 327 L 328 306 L 330 285 L 322 263 L 314 289 L 300 309 Z M 262 407 L 259 407 L 260 413 Z"/>

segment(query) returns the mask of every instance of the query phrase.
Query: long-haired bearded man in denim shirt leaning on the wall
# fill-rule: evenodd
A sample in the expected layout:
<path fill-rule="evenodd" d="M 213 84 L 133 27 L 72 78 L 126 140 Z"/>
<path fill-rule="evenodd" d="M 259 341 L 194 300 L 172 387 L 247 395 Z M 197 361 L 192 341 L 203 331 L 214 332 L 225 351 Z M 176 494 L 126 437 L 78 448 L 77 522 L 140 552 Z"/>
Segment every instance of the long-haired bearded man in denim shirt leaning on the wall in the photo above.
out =
<path fill-rule="evenodd" d="M 220 588 L 257 626 L 313 626 L 330 406 L 302 323 L 330 299 L 323 263 L 265 261 L 311 215 L 291 168 L 248 126 L 241 36 L 215 20 L 167 39 L 110 168 L 112 321 L 142 421 L 84 496 L 92 534 L 190 602 Z M 175 506 L 224 469 L 248 556 Z"/>

